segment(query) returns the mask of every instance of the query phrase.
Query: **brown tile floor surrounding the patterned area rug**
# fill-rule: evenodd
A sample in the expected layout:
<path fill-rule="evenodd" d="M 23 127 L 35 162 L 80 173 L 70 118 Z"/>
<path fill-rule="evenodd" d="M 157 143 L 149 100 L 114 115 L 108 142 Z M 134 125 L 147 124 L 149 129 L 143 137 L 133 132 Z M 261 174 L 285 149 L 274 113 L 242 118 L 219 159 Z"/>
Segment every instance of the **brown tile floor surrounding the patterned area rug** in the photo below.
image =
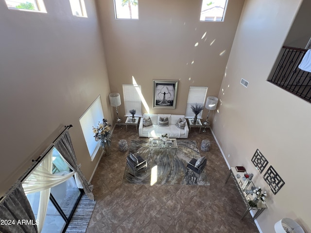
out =
<path fill-rule="evenodd" d="M 122 184 L 127 152 L 118 142 L 138 139 L 135 126 L 116 126 L 110 156 L 103 156 L 91 181 L 97 200 L 86 233 L 258 233 L 250 214 L 240 219 L 244 203 L 233 179 L 225 184 L 228 167 L 212 136 L 193 128 L 190 140 L 207 152 L 210 186 Z"/>

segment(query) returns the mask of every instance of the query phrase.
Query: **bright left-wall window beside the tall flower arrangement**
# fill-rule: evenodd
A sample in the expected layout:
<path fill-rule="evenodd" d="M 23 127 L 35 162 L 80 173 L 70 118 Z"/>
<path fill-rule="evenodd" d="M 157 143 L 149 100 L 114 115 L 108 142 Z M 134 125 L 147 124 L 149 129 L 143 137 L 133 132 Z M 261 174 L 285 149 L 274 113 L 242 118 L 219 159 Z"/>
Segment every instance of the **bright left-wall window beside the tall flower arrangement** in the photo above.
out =
<path fill-rule="evenodd" d="M 93 127 L 98 126 L 98 122 L 104 119 L 103 106 L 101 96 L 98 96 L 96 100 L 86 109 L 83 115 L 79 118 L 80 125 L 83 131 L 84 138 L 86 140 L 87 150 L 91 156 L 91 161 L 95 158 L 99 148 L 100 142 L 95 141 Z"/>

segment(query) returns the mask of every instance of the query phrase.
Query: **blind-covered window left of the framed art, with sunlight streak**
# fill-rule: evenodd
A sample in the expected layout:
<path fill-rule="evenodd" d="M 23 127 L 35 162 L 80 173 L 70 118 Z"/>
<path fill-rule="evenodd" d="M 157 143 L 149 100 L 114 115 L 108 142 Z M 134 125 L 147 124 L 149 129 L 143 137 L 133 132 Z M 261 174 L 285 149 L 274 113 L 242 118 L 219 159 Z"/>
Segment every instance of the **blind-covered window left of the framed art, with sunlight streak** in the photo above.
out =
<path fill-rule="evenodd" d="M 125 116 L 132 116 L 130 110 L 135 109 L 135 116 L 142 116 L 141 113 L 141 98 L 139 93 L 141 93 L 141 86 L 137 84 L 123 84 L 123 100 L 124 100 L 124 110 Z"/>

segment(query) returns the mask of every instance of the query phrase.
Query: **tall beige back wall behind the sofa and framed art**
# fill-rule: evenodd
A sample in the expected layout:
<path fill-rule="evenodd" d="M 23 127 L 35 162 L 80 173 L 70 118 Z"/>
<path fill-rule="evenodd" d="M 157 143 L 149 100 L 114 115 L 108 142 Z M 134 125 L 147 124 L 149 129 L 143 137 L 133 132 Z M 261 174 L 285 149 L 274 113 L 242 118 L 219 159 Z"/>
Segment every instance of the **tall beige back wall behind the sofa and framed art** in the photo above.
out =
<path fill-rule="evenodd" d="M 201 3 L 143 0 L 139 20 L 117 20 L 113 1 L 98 1 L 110 88 L 121 94 L 119 116 L 125 115 L 121 84 L 131 84 L 132 76 L 142 87 L 150 113 L 185 114 L 191 85 L 208 86 L 207 95 L 218 94 L 243 0 L 229 1 L 225 22 L 200 22 Z M 153 80 L 180 81 L 176 109 L 152 108 Z"/>

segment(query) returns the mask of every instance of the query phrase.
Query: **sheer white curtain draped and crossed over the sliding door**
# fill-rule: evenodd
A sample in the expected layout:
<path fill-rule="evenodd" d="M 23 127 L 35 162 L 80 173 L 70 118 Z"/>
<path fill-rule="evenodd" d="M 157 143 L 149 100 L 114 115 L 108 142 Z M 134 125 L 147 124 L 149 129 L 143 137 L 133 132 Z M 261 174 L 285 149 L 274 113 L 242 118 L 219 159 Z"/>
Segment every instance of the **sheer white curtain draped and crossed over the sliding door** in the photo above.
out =
<path fill-rule="evenodd" d="M 53 150 L 51 149 L 44 157 L 39 166 L 23 182 L 22 186 L 26 194 L 40 192 L 38 207 L 38 232 L 42 231 L 50 200 L 51 188 L 70 179 L 75 172 L 65 175 L 52 174 Z"/>

